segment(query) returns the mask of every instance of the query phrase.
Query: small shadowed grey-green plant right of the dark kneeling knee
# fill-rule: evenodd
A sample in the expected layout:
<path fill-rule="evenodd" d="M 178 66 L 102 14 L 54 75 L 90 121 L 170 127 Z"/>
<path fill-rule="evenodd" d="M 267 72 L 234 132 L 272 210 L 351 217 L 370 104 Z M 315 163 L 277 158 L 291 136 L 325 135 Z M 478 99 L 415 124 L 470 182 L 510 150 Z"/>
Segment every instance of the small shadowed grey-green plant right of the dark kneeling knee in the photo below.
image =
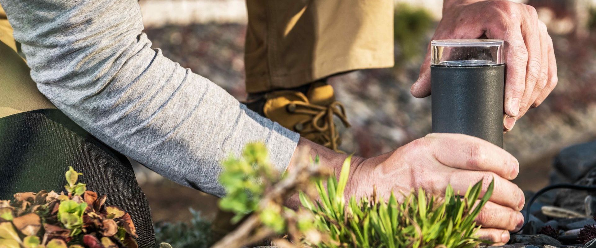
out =
<path fill-rule="evenodd" d="M 207 248 L 213 244 L 211 223 L 201 218 L 200 212 L 190 208 L 193 214 L 190 223 L 159 222 L 155 225 L 155 237 L 175 248 Z"/>

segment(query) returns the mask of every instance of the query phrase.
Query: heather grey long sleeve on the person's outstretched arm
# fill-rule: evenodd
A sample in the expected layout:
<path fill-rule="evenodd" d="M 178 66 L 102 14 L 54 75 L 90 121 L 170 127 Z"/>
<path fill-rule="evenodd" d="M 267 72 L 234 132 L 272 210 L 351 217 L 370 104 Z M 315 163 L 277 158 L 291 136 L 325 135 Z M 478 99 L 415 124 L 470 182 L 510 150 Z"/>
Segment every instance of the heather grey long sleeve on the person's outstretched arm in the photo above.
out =
<path fill-rule="evenodd" d="M 136 0 L 0 3 L 38 89 L 124 155 L 216 196 L 219 162 L 246 143 L 265 142 L 280 171 L 289 164 L 299 135 L 151 49 Z"/>

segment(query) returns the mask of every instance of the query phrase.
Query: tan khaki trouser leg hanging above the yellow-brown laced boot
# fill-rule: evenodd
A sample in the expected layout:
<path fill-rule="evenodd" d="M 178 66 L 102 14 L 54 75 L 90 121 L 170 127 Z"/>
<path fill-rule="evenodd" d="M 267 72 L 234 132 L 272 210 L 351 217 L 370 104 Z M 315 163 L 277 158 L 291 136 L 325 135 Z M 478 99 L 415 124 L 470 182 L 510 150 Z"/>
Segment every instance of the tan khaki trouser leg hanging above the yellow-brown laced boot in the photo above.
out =
<path fill-rule="evenodd" d="M 246 90 L 393 66 L 393 0 L 247 0 Z"/>

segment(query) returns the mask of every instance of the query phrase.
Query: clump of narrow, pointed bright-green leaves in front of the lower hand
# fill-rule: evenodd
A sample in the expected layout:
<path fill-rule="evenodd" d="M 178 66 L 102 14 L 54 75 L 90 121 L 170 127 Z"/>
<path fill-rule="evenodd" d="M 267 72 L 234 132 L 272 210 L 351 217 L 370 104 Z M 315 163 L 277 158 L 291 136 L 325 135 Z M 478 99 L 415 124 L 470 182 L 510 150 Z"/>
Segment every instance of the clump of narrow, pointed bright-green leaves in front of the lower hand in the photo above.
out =
<path fill-rule="evenodd" d="M 325 189 L 316 180 L 320 200 L 300 194 L 300 202 L 315 216 L 315 226 L 330 235 L 330 241 L 313 244 L 317 247 L 425 247 L 472 248 L 482 242 L 475 236 L 480 227 L 474 219 L 488 202 L 493 183 L 477 206 L 482 182 L 470 187 L 463 197 L 451 186 L 443 199 L 427 196 L 424 190 L 404 196 L 402 203 L 392 193 L 386 202 L 373 193 L 370 198 L 344 201 L 350 158 L 344 162 L 339 180 L 331 175 Z"/>

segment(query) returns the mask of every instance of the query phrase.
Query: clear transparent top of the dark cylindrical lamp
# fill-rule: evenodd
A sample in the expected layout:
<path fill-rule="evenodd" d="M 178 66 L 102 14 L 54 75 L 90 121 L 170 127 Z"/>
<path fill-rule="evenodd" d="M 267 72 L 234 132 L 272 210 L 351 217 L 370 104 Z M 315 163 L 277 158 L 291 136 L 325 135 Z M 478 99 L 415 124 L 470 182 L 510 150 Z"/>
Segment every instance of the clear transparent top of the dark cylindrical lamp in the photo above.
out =
<path fill-rule="evenodd" d="M 431 64 L 449 67 L 505 64 L 503 40 L 433 40 Z"/>

